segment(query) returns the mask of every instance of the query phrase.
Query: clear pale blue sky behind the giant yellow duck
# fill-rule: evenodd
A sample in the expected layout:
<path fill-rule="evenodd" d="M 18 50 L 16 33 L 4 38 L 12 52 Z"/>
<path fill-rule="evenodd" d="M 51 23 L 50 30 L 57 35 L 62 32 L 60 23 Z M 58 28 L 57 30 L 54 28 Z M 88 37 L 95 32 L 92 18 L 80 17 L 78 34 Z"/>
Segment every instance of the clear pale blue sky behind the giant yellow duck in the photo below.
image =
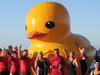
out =
<path fill-rule="evenodd" d="M 26 38 L 25 16 L 35 4 L 55 1 L 69 11 L 71 31 L 88 38 L 93 46 L 100 48 L 100 0 L 0 0 L 0 47 L 23 45 L 28 48 L 31 41 Z"/>

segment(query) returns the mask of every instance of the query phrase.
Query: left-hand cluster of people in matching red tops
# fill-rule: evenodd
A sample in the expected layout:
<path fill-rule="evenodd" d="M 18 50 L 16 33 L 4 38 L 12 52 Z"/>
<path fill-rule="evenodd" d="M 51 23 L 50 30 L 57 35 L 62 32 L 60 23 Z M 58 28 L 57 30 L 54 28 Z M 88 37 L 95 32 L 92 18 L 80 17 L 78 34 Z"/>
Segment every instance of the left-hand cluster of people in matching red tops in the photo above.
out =
<path fill-rule="evenodd" d="M 21 46 L 12 49 L 12 46 L 0 49 L 0 75 L 31 75 L 32 61 L 28 50 L 21 51 Z"/>

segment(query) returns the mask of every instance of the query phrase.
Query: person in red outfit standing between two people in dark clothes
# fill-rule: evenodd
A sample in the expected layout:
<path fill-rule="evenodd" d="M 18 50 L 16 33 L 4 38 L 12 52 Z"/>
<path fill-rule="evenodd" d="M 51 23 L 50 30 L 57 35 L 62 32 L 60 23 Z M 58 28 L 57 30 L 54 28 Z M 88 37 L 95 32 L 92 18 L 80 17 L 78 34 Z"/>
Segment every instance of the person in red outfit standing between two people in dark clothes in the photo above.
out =
<path fill-rule="evenodd" d="M 59 55 L 59 49 L 54 49 L 54 57 L 50 60 L 52 75 L 63 75 L 64 59 Z"/>

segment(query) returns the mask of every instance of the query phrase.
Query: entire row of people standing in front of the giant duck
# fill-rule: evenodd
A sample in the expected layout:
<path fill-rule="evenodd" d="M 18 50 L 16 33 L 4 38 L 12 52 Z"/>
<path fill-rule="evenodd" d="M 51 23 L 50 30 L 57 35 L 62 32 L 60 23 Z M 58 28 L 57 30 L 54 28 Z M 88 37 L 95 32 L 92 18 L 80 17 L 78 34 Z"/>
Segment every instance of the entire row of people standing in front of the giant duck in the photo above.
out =
<path fill-rule="evenodd" d="M 100 58 L 97 59 L 94 68 L 89 72 L 88 56 L 84 48 L 79 48 L 81 59 L 77 60 L 75 53 L 66 54 L 66 59 L 60 55 L 59 49 L 54 49 L 50 59 L 44 57 L 42 51 L 38 52 L 35 60 L 28 56 L 28 50 L 21 50 L 21 46 L 9 46 L 8 49 L 0 49 L 0 75 L 64 75 L 67 68 L 68 75 L 78 75 L 76 69 L 81 66 L 81 75 L 100 75 Z M 80 63 L 78 62 L 80 61 Z M 34 63 L 33 63 L 34 62 Z M 34 74 L 32 74 L 34 75 Z"/>

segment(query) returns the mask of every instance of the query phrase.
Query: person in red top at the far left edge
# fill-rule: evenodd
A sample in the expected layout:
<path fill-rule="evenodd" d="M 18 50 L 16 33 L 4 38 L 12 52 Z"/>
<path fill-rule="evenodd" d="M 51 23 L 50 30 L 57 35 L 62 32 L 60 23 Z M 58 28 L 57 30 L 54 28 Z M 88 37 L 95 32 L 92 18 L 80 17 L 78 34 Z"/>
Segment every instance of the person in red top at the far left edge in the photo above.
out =
<path fill-rule="evenodd" d="M 0 75 L 9 75 L 10 59 L 7 55 L 7 51 L 4 50 L 0 56 Z"/>

